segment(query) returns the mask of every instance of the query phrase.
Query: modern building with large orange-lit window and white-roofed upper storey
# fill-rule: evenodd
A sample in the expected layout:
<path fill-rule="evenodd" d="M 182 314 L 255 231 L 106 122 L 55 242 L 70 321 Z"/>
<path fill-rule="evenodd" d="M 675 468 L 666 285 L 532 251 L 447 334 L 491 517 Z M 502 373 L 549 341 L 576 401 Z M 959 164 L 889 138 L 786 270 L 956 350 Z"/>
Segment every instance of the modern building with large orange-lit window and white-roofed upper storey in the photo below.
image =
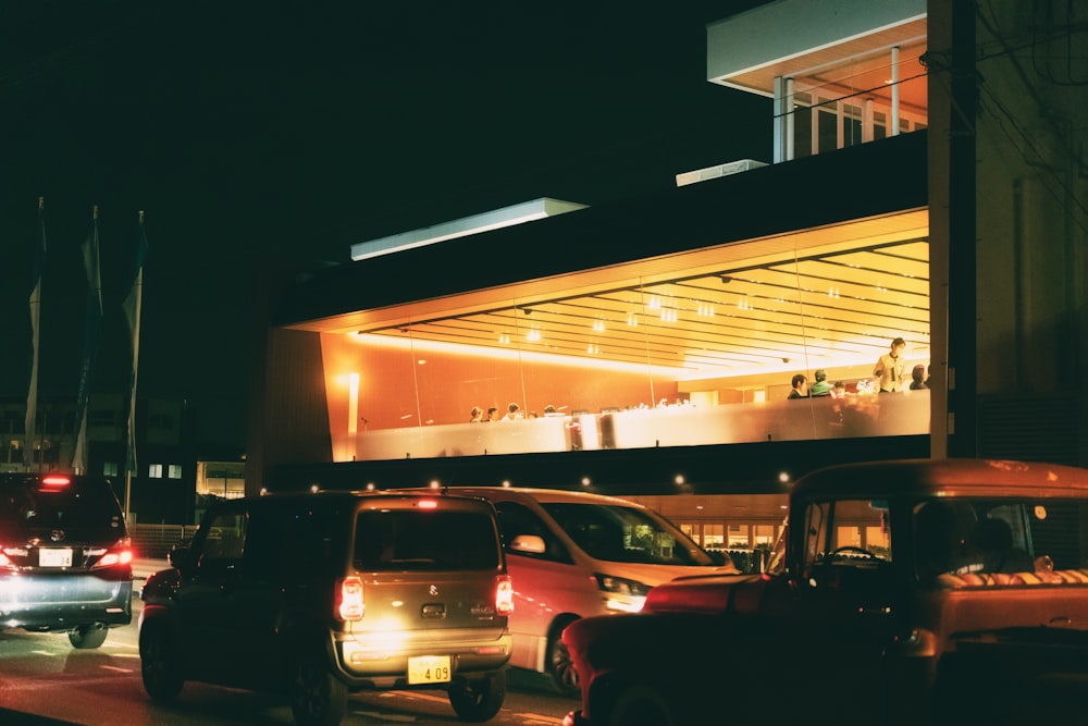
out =
<path fill-rule="evenodd" d="M 1088 464 L 1086 20 L 768 2 L 706 35 L 708 82 L 772 101 L 766 159 L 269 270 L 247 491 L 758 494 L 844 460 Z M 928 389 L 870 390 L 895 337 Z M 786 399 L 820 369 L 845 397 Z M 511 402 L 541 416 L 469 422 Z"/>

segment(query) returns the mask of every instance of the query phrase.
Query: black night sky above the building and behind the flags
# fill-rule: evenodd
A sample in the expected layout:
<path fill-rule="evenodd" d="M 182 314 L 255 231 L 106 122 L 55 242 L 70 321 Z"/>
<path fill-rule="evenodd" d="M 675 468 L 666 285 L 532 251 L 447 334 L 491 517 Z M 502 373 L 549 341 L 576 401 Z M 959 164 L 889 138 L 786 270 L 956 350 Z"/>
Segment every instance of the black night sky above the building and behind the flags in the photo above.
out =
<path fill-rule="evenodd" d="M 0 395 L 27 391 L 39 196 L 39 390 L 75 396 L 95 205 L 94 390 L 124 390 L 144 210 L 139 392 L 186 398 L 202 441 L 245 443 L 262 257 L 342 263 L 354 243 L 537 197 L 605 205 L 769 161 L 770 101 L 705 79 L 705 23 L 758 0 L 18 4 L 0 11 Z"/>

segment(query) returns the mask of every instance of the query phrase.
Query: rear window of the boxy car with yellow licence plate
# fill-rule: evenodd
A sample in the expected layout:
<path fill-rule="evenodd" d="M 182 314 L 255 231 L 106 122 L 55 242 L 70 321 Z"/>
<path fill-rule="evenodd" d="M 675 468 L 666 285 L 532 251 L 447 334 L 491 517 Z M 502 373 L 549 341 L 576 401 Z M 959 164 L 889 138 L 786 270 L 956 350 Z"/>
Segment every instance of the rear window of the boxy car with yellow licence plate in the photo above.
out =
<path fill-rule="evenodd" d="M 482 512 L 359 513 L 355 568 L 366 571 L 495 569 L 494 520 Z"/>

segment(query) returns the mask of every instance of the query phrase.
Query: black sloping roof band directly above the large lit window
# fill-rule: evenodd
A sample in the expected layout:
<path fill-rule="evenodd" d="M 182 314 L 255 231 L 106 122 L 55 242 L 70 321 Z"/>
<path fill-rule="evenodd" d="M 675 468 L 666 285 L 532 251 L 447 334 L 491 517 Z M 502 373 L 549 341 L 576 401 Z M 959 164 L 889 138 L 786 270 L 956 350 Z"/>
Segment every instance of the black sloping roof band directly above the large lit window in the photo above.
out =
<path fill-rule="evenodd" d="M 273 324 L 916 209 L 927 204 L 926 184 L 926 132 L 904 134 L 653 198 L 327 268 L 286 291 Z"/>

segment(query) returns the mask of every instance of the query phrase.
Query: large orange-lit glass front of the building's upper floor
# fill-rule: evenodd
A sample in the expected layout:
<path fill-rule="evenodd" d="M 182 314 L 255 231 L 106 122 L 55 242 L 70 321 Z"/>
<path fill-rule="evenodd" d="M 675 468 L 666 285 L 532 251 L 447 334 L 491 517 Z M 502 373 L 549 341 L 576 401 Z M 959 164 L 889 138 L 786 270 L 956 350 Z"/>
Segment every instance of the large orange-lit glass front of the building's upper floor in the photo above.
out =
<path fill-rule="evenodd" d="M 333 459 L 928 433 L 928 390 L 908 389 L 930 364 L 925 219 L 323 333 Z M 904 378 L 880 395 L 874 367 L 897 337 Z"/>

